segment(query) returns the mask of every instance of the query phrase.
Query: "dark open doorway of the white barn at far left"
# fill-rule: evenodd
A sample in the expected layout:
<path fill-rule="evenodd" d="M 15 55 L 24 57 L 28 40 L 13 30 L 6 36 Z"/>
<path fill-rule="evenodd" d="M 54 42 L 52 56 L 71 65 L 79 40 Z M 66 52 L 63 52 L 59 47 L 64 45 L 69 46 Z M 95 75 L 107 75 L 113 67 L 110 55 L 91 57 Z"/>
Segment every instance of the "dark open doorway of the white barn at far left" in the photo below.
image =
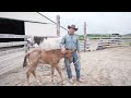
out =
<path fill-rule="evenodd" d="M 25 35 L 24 22 L 0 17 L 0 34 Z M 1 38 L 0 42 L 21 41 L 21 40 L 23 40 L 23 39 Z"/>

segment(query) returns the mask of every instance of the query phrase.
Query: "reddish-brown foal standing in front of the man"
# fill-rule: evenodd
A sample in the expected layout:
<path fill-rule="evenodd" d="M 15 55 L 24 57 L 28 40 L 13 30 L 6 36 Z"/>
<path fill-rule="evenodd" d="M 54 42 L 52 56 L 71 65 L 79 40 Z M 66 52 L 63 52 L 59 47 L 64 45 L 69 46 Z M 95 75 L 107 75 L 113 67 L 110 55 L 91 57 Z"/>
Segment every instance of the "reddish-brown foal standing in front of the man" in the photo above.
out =
<path fill-rule="evenodd" d="M 26 72 L 27 85 L 31 85 L 29 84 L 31 74 L 35 76 L 36 82 L 40 85 L 40 82 L 37 79 L 36 73 L 35 73 L 38 63 L 50 64 L 51 82 L 53 82 L 53 71 L 56 69 L 61 77 L 61 82 L 63 83 L 63 78 L 62 78 L 61 71 L 59 69 L 58 63 L 62 58 L 69 58 L 72 61 L 72 53 L 73 53 L 73 50 L 66 50 L 64 53 L 61 53 L 61 49 L 56 49 L 56 50 L 36 49 L 27 53 L 24 57 L 24 62 L 23 62 L 23 68 L 27 66 L 27 64 L 29 66 L 28 71 Z M 28 59 L 28 63 L 27 63 L 27 59 Z"/>

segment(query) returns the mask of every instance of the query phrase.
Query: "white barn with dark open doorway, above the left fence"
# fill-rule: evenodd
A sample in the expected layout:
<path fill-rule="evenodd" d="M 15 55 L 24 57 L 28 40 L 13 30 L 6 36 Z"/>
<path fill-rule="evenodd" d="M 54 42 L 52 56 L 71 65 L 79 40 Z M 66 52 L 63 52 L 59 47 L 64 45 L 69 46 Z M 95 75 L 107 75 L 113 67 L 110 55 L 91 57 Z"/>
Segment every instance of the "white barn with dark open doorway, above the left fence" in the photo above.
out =
<path fill-rule="evenodd" d="M 5 28 L 2 27 L 3 24 Z M 2 32 L 4 32 L 20 35 L 57 36 L 56 24 L 57 16 L 56 22 L 53 22 L 37 12 L 0 12 L 0 27 L 8 30 L 4 32 L 2 29 L 0 30 L 0 34 L 3 34 Z M 67 33 L 67 29 L 62 26 L 60 27 L 60 30 Z"/>

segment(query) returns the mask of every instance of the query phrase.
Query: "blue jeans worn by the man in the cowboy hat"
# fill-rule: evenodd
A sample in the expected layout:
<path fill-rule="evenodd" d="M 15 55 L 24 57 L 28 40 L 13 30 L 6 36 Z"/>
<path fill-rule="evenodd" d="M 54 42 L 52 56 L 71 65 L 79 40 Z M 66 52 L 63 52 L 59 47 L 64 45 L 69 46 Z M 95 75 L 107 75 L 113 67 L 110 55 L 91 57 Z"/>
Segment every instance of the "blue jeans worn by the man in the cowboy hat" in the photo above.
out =
<path fill-rule="evenodd" d="M 67 68 L 68 77 L 72 78 L 72 71 L 70 68 L 71 62 L 70 62 L 69 58 L 64 58 L 64 63 L 66 63 L 66 68 Z M 75 68 L 75 73 L 76 73 L 76 79 L 79 79 L 80 78 L 80 71 L 81 71 L 81 63 L 80 63 L 80 59 L 78 57 L 76 51 L 73 53 L 73 63 L 75 63 L 74 68 Z"/>

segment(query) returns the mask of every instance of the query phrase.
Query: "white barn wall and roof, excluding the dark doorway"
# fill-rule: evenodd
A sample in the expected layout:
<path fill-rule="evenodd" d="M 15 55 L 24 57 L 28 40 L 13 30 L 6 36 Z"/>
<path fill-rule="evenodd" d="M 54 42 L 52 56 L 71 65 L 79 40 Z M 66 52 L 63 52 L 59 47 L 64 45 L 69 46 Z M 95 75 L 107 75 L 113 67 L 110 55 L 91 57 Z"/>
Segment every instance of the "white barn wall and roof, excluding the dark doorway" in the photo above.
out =
<path fill-rule="evenodd" d="M 36 12 L 0 12 L 0 17 L 51 23 L 37 24 L 25 22 L 25 35 L 57 36 L 56 24 Z"/>

